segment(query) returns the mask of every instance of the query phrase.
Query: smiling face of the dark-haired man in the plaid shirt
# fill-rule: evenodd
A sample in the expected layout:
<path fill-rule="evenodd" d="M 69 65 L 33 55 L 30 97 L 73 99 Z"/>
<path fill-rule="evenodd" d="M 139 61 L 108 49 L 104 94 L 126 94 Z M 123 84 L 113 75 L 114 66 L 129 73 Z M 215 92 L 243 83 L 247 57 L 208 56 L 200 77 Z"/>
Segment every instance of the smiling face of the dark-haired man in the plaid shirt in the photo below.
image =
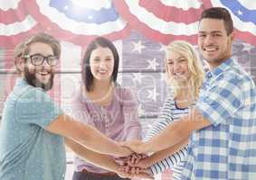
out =
<path fill-rule="evenodd" d="M 223 20 L 202 19 L 199 24 L 198 47 L 210 67 L 217 67 L 231 57 L 232 36 L 232 33 L 227 34 Z"/>

